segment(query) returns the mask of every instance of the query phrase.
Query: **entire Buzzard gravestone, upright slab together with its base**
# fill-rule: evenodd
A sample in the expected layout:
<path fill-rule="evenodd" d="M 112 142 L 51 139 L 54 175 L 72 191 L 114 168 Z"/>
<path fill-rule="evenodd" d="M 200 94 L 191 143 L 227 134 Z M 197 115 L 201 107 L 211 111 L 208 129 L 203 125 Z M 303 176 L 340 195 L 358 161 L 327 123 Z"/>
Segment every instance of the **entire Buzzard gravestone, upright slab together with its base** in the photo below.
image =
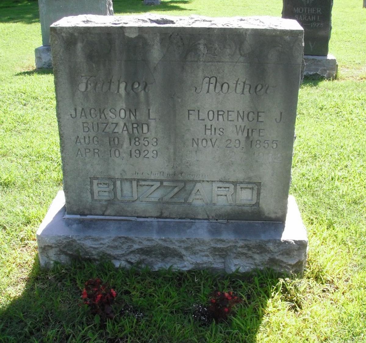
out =
<path fill-rule="evenodd" d="M 77 16 L 53 24 L 51 42 L 64 193 L 37 233 L 42 266 L 81 254 L 303 270 L 288 197 L 295 20 Z"/>

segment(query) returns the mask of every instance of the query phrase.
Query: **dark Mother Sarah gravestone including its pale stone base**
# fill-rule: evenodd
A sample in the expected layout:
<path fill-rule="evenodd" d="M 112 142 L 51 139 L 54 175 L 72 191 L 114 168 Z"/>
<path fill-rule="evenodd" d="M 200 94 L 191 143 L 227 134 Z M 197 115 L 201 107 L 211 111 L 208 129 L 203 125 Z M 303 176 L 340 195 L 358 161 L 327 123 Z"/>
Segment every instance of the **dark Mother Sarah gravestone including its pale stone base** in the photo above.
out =
<path fill-rule="evenodd" d="M 305 75 L 336 77 L 337 61 L 328 54 L 332 7 L 333 0 L 283 0 L 282 17 L 297 20 L 304 29 Z"/>

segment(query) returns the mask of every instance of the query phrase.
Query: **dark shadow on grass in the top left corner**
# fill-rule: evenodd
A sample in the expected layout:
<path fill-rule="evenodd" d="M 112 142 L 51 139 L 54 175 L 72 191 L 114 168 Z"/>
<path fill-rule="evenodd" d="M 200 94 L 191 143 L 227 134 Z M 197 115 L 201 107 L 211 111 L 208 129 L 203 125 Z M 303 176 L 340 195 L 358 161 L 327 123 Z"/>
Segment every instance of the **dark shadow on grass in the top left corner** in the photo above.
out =
<path fill-rule="evenodd" d="M 39 21 L 37 0 L 0 1 L 0 23 L 33 24 Z"/>

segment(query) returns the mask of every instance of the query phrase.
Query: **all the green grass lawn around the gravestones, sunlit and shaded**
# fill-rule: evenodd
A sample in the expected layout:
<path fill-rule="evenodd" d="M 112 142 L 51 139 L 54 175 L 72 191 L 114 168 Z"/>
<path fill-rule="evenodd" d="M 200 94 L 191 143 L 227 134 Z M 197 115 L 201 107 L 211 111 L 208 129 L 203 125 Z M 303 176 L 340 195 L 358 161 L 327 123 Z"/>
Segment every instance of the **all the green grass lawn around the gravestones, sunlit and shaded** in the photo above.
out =
<path fill-rule="evenodd" d="M 115 0 L 117 14 L 275 15 L 281 1 Z M 309 234 L 303 278 L 271 272 L 116 270 L 75 263 L 40 270 L 35 232 L 62 187 L 52 72 L 34 71 L 37 1 L 0 3 L 0 342 L 366 342 L 366 9 L 337 0 L 330 53 L 339 78 L 300 88 L 291 193 Z M 145 317 L 97 324 L 78 306 L 101 277 Z M 186 312 L 215 288 L 244 302 L 229 323 Z M 118 306 L 116 306 L 116 309 Z"/>

